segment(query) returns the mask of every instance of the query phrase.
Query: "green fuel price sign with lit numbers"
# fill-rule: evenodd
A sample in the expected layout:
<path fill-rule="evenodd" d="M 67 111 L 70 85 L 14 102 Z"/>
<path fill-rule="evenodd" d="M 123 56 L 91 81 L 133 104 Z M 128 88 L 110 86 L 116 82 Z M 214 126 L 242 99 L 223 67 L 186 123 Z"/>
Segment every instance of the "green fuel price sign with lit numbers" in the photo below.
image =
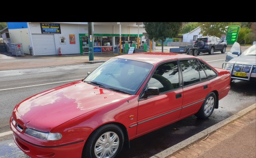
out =
<path fill-rule="evenodd" d="M 235 42 L 237 42 L 237 40 L 238 40 L 239 27 L 240 27 L 240 26 L 237 26 L 237 25 L 231 25 L 231 26 L 229 26 L 228 32 L 227 32 L 227 37 L 226 37 L 226 40 L 227 40 L 227 44 L 228 44 L 228 45 L 232 45 L 232 44 L 234 44 Z"/>

